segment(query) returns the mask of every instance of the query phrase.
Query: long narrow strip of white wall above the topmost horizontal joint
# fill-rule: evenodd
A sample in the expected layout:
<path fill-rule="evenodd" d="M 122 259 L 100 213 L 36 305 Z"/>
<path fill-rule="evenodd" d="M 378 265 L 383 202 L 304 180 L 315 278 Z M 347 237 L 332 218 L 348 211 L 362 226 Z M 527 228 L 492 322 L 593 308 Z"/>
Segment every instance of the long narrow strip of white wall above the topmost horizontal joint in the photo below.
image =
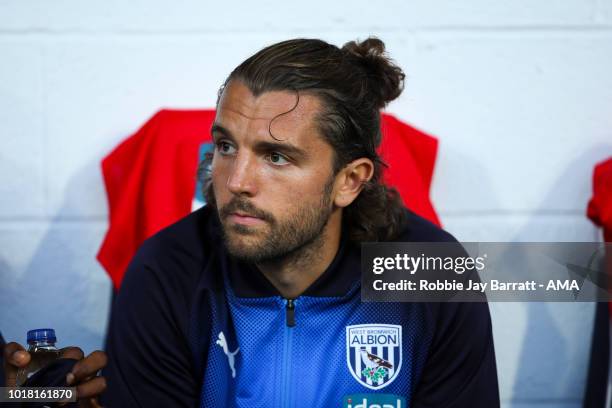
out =
<path fill-rule="evenodd" d="M 58 0 L 3 1 L 4 30 L 41 32 L 121 31 L 269 31 L 397 30 L 410 27 L 584 26 L 595 20 L 596 0 L 391 0 L 371 2 L 301 2 L 264 0 L 137 0 L 82 2 Z M 609 23 L 609 21 L 608 21 Z"/>

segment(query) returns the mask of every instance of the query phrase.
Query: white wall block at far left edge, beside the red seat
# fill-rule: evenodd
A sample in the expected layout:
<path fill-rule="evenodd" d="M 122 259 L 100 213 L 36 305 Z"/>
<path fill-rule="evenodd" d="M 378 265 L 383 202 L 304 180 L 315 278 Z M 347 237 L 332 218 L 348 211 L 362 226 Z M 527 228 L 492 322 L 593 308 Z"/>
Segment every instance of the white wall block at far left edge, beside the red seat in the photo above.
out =
<path fill-rule="evenodd" d="M 44 214 L 42 48 L 0 38 L 0 217 Z"/>

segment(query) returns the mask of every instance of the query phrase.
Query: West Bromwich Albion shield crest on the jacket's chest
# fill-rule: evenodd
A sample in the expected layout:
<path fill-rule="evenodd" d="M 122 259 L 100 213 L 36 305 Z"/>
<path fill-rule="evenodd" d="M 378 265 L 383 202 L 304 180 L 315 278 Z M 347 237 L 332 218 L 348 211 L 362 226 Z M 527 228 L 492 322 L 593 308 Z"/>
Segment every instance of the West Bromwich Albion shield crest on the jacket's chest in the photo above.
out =
<path fill-rule="evenodd" d="M 346 362 L 364 387 L 379 390 L 391 384 L 402 368 L 402 326 L 346 326 Z"/>

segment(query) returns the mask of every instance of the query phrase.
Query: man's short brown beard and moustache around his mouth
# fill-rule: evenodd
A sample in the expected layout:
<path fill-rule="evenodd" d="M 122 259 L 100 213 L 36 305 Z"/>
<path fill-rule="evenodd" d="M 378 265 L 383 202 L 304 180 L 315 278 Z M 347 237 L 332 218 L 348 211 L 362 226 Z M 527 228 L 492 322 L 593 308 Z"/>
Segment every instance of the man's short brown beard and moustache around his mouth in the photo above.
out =
<path fill-rule="evenodd" d="M 223 240 L 230 255 L 249 263 L 279 261 L 299 255 L 312 255 L 324 244 L 323 230 L 332 214 L 331 193 L 334 177 L 326 183 L 319 200 L 301 201 L 282 220 L 273 214 L 256 208 L 248 199 L 234 196 L 222 208 L 217 207 L 221 221 Z M 212 186 L 208 195 L 215 203 Z M 228 224 L 230 214 L 241 211 L 264 221 L 263 225 Z M 267 227 L 267 228 L 266 228 Z"/>

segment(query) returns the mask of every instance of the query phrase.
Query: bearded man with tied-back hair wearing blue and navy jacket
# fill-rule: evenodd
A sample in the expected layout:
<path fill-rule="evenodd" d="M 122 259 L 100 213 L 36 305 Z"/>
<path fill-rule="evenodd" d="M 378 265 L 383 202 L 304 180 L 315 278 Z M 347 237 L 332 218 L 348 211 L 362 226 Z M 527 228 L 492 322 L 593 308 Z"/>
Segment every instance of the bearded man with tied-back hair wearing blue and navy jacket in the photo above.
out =
<path fill-rule="evenodd" d="M 360 300 L 361 242 L 455 241 L 381 183 L 403 79 L 373 38 L 285 41 L 231 73 L 208 205 L 147 240 L 117 296 L 106 406 L 499 405 L 486 303 Z M 394 347 L 350 347 L 366 326 Z"/>

